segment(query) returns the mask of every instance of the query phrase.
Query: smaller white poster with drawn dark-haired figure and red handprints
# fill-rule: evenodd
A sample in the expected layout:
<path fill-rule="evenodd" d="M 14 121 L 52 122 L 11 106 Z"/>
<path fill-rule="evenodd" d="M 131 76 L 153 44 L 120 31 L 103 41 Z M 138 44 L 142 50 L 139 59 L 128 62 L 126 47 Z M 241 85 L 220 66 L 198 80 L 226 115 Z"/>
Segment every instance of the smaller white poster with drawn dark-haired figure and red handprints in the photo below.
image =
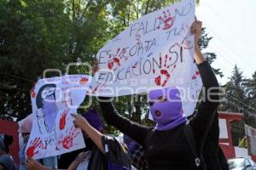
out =
<path fill-rule="evenodd" d="M 39 159 L 84 147 L 79 128 L 70 113 L 84 101 L 91 77 L 70 75 L 39 80 L 32 89 L 32 133 L 26 156 Z"/>

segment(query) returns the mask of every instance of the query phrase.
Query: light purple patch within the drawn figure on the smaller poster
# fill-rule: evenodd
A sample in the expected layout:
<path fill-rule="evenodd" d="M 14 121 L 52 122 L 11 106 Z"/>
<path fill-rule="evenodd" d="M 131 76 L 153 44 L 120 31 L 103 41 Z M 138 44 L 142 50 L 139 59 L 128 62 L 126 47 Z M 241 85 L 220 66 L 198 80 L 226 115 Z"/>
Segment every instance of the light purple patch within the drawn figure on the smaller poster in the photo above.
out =
<path fill-rule="evenodd" d="M 55 118 L 57 116 L 57 107 L 55 105 L 54 95 L 47 96 L 43 101 L 44 108 L 42 112 L 45 117 L 45 122 L 49 129 L 49 132 L 52 132 L 55 126 Z"/>

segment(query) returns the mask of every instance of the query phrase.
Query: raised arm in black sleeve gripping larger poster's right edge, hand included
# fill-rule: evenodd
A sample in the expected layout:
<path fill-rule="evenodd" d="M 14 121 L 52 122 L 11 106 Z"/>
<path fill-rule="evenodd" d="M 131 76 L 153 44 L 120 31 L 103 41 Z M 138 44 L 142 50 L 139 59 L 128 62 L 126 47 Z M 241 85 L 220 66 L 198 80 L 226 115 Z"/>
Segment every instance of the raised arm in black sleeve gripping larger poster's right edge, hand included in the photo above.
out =
<path fill-rule="evenodd" d="M 218 81 L 215 77 L 211 65 L 204 59 L 198 46 L 201 36 L 201 21 L 196 20 L 191 27 L 191 32 L 195 34 L 195 62 L 201 74 L 203 82 L 204 97 L 198 106 L 196 115 L 190 120 L 190 125 L 198 141 L 203 141 L 212 127 L 214 115 L 218 109 Z"/>

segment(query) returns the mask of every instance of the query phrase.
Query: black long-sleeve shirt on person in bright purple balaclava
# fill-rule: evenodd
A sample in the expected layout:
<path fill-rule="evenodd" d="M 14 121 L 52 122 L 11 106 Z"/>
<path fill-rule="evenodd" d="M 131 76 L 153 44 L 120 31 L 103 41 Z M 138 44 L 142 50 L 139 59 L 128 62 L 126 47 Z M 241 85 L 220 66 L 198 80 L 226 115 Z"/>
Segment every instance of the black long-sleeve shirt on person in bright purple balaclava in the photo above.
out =
<path fill-rule="evenodd" d="M 208 98 L 201 101 L 196 116 L 190 119 L 189 124 L 194 132 L 196 144 L 198 148 L 201 148 L 218 107 L 218 102 L 216 102 L 218 81 L 207 61 L 197 66 L 201 73 L 205 96 Z M 215 99 L 215 102 L 210 99 Z M 143 146 L 149 169 L 195 169 L 195 158 L 183 133 L 185 123 L 170 130 L 157 131 L 154 127 L 145 127 L 120 116 L 110 102 L 100 102 L 100 105 L 103 116 L 109 124 L 117 127 L 122 133 Z M 149 138 L 148 133 L 150 133 Z"/>

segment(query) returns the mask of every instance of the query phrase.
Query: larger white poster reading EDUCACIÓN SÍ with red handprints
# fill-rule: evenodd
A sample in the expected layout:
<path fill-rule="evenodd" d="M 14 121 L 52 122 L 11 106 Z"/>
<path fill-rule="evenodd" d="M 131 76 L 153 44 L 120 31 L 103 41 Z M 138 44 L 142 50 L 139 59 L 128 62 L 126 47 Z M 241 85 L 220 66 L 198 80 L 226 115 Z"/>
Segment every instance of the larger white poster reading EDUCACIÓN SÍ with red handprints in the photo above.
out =
<path fill-rule="evenodd" d="M 201 80 L 190 34 L 194 20 L 194 0 L 183 0 L 136 20 L 96 54 L 99 71 L 90 94 L 121 96 L 173 86 L 193 88 L 190 96 L 198 93 Z"/>

